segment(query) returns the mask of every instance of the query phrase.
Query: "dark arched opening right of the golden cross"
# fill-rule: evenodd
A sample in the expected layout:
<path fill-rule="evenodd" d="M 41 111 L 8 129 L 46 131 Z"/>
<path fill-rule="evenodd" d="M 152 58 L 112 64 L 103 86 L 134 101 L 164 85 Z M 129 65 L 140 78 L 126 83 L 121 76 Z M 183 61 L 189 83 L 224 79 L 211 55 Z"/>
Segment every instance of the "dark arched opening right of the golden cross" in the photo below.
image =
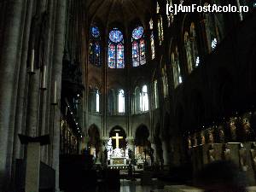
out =
<path fill-rule="evenodd" d="M 151 146 L 148 141 L 149 131 L 146 125 L 139 125 L 135 133 L 135 158 L 137 164 L 143 163 L 145 160 L 151 160 Z"/>

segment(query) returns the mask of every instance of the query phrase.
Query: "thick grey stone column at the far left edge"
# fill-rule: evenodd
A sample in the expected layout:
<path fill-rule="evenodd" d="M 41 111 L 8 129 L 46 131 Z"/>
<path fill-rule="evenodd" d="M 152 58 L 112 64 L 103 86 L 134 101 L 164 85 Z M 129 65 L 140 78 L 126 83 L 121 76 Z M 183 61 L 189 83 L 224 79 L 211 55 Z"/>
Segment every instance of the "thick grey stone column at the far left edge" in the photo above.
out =
<path fill-rule="evenodd" d="M 22 0 L 14 0 L 8 3 L 7 20 L 3 34 L 3 44 L 0 60 L 0 190 L 4 191 L 7 177 L 9 177 L 9 166 L 6 165 L 8 156 L 12 156 L 12 150 L 8 152 L 8 141 L 10 130 L 10 117 L 14 113 L 13 88 L 15 85 L 16 55 L 18 54 L 18 44 L 20 40 L 20 18 L 22 12 Z M 12 140 L 12 139 L 11 139 Z"/>

